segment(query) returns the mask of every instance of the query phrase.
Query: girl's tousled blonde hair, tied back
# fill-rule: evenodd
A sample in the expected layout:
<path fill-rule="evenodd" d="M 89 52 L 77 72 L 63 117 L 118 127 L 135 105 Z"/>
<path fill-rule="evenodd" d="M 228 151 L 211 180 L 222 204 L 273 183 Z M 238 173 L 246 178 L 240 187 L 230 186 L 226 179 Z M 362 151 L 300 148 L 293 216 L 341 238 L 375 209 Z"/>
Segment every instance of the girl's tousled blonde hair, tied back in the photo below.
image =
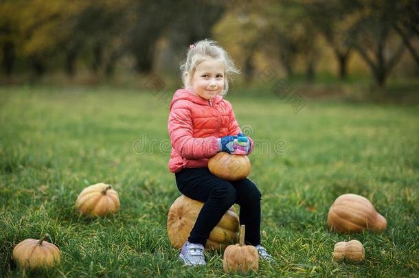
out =
<path fill-rule="evenodd" d="M 240 69 L 234 65 L 227 51 L 223 49 L 216 41 L 205 39 L 191 45 L 188 49 L 186 59 L 181 62 L 181 73 L 184 88 L 188 87 L 190 79 L 194 76 L 196 67 L 207 58 L 220 60 L 224 64 L 224 88 L 221 95 L 229 91 L 229 78 L 233 74 L 239 74 Z"/>

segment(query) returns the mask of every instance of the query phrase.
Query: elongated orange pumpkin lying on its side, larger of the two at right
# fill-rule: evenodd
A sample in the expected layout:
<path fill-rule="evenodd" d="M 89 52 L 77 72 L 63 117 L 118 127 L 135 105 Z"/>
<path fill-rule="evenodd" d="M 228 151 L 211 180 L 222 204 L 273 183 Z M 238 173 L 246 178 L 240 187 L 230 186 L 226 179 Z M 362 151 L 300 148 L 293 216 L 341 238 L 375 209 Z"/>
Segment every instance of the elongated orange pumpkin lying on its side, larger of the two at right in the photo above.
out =
<path fill-rule="evenodd" d="M 341 233 L 361 232 L 363 229 L 384 231 L 387 228 L 387 220 L 374 209 L 367 198 L 356 194 L 343 194 L 329 209 L 328 227 Z"/>

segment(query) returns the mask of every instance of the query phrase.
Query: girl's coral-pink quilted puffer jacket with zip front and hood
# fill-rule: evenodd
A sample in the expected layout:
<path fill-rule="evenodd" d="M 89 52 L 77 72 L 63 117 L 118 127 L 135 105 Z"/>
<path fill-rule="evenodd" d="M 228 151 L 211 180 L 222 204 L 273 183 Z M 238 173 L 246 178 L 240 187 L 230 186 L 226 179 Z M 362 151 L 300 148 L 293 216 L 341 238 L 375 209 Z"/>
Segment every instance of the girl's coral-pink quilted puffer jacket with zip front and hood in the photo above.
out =
<path fill-rule="evenodd" d="M 231 104 L 218 95 L 205 100 L 187 89 L 174 93 L 168 131 L 172 142 L 169 170 L 207 167 L 218 150 L 217 138 L 241 132 Z M 249 138 L 251 147 L 253 141 Z"/>

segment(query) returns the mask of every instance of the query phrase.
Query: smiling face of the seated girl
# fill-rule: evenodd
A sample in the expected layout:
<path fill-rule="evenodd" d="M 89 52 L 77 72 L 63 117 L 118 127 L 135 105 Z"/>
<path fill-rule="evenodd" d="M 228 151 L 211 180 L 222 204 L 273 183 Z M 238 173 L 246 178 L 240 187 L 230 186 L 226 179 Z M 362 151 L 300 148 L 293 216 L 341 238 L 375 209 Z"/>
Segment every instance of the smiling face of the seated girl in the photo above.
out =
<path fill-rule="evenodd" d="M 220 60 L 207 58 L 196 69 L 191 79 L 192 91 L 211 100 L 224 89 L 224 64 Z"/>

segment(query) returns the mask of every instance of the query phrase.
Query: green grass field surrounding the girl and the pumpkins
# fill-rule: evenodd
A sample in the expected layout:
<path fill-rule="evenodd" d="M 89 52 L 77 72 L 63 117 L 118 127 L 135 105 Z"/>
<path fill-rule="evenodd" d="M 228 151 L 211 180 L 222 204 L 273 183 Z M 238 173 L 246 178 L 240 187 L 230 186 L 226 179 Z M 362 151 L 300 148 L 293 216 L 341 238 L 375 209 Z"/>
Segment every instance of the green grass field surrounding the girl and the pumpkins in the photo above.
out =
<path fill-rule="evenodd" d="M 250 178 L 262 192 L 262 244 L 278 261 L 261 263 L 258 275 L 418 276 L 418 105 L 307 100 L 295 114 L 274 95 L 227 98 L 251 137 L 271 143 L 270 153 L 256 148 L 250 156 Z M 167 212 L 179 192 L 167 167 L 167 119 L 168 104 L 148 92 L 0 89 L 0 274 L 222 276 L 222 254 L 209 253 L 205 268 L 185 268 L 168 242 Z M 144 136 L 146 152 L 135 152 Z M 275 141 L 286 142 L 278 153 Z M 119 192 L 120 213 L 81 217 L 78 194 L 99 182 Z M 328 231 L 328 208 L 348 192 L 369 198 L 387 230 Z M 14 246 L 44 233 L 62 251 L 60 266 L 18 268 Z M 365 262 L 332 262 L 334 244 L 352 239 L 364 244 Z"/>

